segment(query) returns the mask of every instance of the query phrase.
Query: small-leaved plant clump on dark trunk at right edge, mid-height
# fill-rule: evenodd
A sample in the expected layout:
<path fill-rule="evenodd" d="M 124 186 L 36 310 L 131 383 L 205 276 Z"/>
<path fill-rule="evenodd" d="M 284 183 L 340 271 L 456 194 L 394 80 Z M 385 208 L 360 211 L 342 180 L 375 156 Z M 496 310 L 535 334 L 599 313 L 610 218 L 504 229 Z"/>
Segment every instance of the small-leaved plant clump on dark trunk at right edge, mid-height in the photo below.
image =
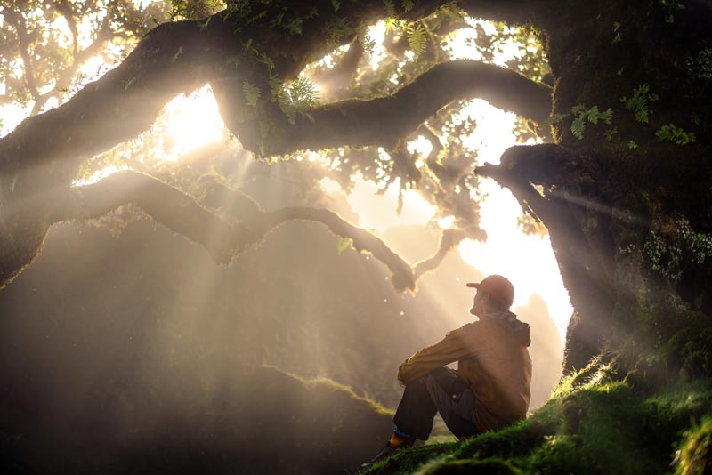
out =
<path fill-rule="evenodd" d="M 666 235 L 651 230 L 643 250 L 652 271 L 676 282 L 688 266 L 699 265 L 712 255 L 712 235 L 696 232 L 681 217 Z"/>

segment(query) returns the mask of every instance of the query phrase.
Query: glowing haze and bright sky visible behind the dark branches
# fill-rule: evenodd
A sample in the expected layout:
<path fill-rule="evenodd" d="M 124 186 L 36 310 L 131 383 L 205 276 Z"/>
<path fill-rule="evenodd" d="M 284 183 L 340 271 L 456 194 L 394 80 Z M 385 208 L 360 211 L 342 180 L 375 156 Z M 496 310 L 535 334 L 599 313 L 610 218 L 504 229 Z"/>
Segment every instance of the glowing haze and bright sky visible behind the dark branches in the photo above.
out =
<path fill-rule="evenodd" d="M 494 28 L 466 21 L 478 28 L 447 36 L 444 49 L 453 59 L 479 59 L 476 32 Z M 61 47 L 69 47 L 66 22 L 53 21 L 52 28 L 67 40 Z M 357 75 L 367 77 L 363 84 L 380 85 L 380 71 L 392 64 L 384 35 L 384 22 L 368 30 L 370 64 L 361 63 L 359 74 L 376 74 Z M 86 60 L 74 83 L 58 89 L 44 110 L 116 68 L 134 41 Z M 80 35 L 80 48 L 87 42 Z M 493 62 L 504 64 L 522 46 L 506 40 L 498 51 Z M 402 56 L 401 66 L 415 65 L 415 53 Z M 327 56 L 320 64 L 337 62 Z M 20 57 L 11 68 L 19 79 Z M 318 74 L 309 76 L 318 69 L 304 76 L 319 98 L 343 95 L 336 80 L 320 84 Z M 398 74 L 386 80 L 391 88 L 401 85 Z M 0 107 L 0 135 L 33 106 Z M 457 116 L 428 126 L 441 128 L 433 135 L 449 144 L 462 140 L 463 166 L 471 166 L 470 157 L 477 165 L 497 164 L 508 147 L 534 141 L 513 132 L 522 130 L 514 114 L 486 101 L 453 109 Z M 417 153 L 417 167 L 425 170 L 432 143 L 433 136 L 414 136 L 407 144 Z M 457 142 L 450 150 L 455 155 L 463 147 Z M 383 239 L 411 266 L 433 256 L 455 218 L 412 188 L 397 213 L 400 182 L 384 189 L 389 177 L 379 173 L 386 166 L 353 168 L 368 180 L 353 176 L 347 194 L 339 183 L 352 168 L 334 164 L 346 164 L 350 153 L 303 150 L 270 163 L 255 160 L 225 128 L 206 85 L 169 101 L 149 131 L 87 160 L 74 185 L 131 168 L 200 201 L 203 182 L 225 180 L 244 195 L 204 203 L 228 219 L 244 197 L 268 211 L 326 207 Z M 390 158 L 384 149 L 378 153 L 384 163 Z M 522 209 L 510 192 L 490 179 L 479 184 L 471 203 L 481 205 L 487 241 L 462 241 L 437 269 L 419 276 L 415 294 L 396 290 L 384 262 L 350 248 L 316 221 L 283 223 L 230 266 L 216 265 L 205 247 L 131 205 L 98 220 L 54 225 L 36 261 L 0 292 L 0 420 L 17 454 L 45 464 L 44 471 L 19 471 L 343 473 L 383 447 L 392 431 L 386 409 L 401 399 L 394 378 L 401 361 L 472 321 L 473 291 L 465 283 L 494 273 L 512 280 L 513 310 L 530 323 L 530 410 L 544 404 L 561 377 L 569 296 L 546 229 L 524 234 Z M 448 438 L 454 436 L 440 422 L 428 443 Z"/>

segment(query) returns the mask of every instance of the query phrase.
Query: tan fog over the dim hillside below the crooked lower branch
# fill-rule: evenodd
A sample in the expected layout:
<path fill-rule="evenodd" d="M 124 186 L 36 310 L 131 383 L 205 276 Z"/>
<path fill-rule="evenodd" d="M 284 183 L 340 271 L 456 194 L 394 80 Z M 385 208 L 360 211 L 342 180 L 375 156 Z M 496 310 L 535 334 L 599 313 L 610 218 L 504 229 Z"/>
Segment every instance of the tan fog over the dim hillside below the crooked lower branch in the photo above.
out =
<path fill-rule="evenodd" d="M 273 180 L 255 182 L 260 205 L 294 202 Z M 483 277 L 451 253 L 399 294 L 381 262 L 305 221 L 230 267 L 147 219 L 111 231 L 55 226 L 0 294 L 13 471 L 353 470 L 389 437 L 401 361 L 472 321 L 465 282 Z M 438 246 L 422 226 L 382 238 L 408 262 Z M 531 326 L 533 409 L 561 373 L 561 340 L 537 295 L 513 310 Z"/>

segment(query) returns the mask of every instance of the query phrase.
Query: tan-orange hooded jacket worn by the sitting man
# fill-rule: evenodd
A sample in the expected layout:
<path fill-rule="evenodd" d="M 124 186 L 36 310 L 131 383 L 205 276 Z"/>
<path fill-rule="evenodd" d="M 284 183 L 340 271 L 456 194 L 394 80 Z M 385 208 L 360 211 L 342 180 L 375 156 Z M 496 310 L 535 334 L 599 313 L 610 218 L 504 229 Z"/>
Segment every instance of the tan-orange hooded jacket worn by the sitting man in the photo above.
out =
<path fill-rule="evenodd" d="M 481 431 L 498 429 L 527 415 L 531 358 L 529 325 L 509 311 L 489 315 L 451 331 L 398 368 L 410 382 L 457 360 L 457 373 L 476 399 L 473 422 Z"/>

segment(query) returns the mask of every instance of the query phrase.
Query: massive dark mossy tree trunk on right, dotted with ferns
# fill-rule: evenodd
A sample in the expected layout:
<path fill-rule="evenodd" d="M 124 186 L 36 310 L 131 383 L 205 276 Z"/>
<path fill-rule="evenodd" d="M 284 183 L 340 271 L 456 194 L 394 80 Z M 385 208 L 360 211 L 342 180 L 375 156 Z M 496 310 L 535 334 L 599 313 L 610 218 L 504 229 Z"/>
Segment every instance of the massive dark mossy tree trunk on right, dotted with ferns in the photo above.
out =
<path fill-rule="evenodd" d="M 556 145 L 510 149 L 481 173 L 550 230 L 575 309 L 570 370 L 605 343 L 672 338 L 677 310 L 709 315 L 712 14 L 702 2 L 549 2 L 534 23 Z"/>

